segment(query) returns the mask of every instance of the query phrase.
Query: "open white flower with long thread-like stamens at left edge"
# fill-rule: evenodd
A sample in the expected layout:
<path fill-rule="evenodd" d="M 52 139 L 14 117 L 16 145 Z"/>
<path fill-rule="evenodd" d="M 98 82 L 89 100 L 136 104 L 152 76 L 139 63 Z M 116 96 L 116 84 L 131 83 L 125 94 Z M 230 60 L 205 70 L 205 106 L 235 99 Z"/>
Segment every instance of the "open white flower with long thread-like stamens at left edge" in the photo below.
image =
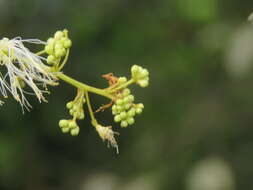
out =
<path fill-rule="evenodd" d="M 46 101 L 43 93 L 47 92 L 47 85 L 55 85 L 56 78 L 43 64 L 43 57 L 30 52 L 23 42 L 45 44 L 37 39 L 22 40 L 3 38 L 0 40 L 0 91 L 4 97 L 8 91 L 27 110 L 31 107 L 24 94 L 36 95 L 38 100 Z M 26 92 L 21 82 L 31 88 Z M 39 86 L 42 86 L 40 89 Z"/>

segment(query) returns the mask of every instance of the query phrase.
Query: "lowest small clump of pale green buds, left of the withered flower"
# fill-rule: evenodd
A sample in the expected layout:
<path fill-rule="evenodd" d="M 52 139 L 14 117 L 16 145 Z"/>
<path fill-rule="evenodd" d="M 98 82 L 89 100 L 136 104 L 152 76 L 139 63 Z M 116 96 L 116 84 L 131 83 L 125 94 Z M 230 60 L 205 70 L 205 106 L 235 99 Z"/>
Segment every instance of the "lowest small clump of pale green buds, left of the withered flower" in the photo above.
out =
<path fill-rule="evenodd" d="M 59 121 L 59 126 L 63 133 L 68 133 L 72 136 L 77 136 L 79 134 L 79 126 L 76 123 L 76 120 L 66 120 L 62 119 Z"/>

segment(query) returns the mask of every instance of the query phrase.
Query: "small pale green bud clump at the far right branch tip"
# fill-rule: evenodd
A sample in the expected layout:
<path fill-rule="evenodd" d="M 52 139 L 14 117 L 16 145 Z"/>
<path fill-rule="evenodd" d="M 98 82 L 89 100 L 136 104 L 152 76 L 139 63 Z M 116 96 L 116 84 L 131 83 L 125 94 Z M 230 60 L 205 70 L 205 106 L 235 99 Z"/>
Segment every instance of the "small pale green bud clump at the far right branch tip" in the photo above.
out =
<path fill-rule="evenodd" d="M 149 85 L 149 72 L 147 69 L 138 65 L 133 65 L 131 68 L 132 78 L 141 87 L 145 88 Z"/>

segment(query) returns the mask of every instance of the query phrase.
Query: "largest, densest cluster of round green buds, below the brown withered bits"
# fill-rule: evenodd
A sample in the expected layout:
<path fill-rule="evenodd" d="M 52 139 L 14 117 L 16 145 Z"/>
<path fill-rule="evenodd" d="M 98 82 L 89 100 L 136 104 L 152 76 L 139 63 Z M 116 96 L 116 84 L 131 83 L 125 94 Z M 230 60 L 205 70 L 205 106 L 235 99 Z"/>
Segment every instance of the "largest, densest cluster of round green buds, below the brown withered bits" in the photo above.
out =
<path fill-rule="evenodd" d="M 121 127 L 127 127 L 134 124 L 134 116 L 141 114 L 144 105 L 134 104 L 134 96 L 128 88 L 125 88 L 121 93 L 117 95 L 118 99 L 112 106 L 112 114 L 114 115 L 114 121 L 120 122 Z"/>

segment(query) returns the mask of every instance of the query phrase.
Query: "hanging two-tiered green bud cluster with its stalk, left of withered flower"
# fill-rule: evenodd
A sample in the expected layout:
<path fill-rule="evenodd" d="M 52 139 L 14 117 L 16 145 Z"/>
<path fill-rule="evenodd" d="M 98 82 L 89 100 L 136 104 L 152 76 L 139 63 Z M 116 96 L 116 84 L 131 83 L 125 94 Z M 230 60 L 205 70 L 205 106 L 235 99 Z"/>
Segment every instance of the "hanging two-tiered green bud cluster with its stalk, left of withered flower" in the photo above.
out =
<path fill-rule="evenodd" d="M 79 126 L 76 123 L 76 120 L 84 119 L 83 104 L 85 103 L 84 92 L 78 91 L 77 96 L 73 101 L 70 101 L 66 104 L 69 114 L 73 117 L 72 119 L 66 120 L 62 119 L 59 121 L 59 126 L 63 133 L 68 133 L 72 136 L 79 134 Z"/>

